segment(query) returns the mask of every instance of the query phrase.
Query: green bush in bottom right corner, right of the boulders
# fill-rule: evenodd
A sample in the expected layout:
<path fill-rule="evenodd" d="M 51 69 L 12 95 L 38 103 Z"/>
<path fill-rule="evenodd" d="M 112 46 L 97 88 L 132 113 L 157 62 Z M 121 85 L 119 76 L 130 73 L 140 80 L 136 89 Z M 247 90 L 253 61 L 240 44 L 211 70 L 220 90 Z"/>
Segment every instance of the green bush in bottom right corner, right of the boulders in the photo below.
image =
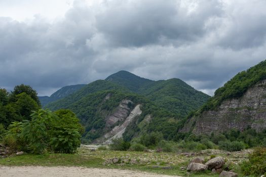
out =
<path fill-rule="evenodd" d="M 244 175 L 266 175 L 266 148 L 256 148 L 240 166 Z"/>

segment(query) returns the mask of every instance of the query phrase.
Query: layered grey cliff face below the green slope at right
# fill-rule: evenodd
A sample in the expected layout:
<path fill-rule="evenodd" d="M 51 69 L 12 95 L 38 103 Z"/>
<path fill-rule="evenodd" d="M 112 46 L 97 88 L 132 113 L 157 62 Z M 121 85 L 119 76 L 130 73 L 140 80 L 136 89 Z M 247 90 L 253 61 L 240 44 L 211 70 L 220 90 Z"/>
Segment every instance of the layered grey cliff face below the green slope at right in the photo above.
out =
<path fill-rule="evenodd" d="M 266 80 L 250 87 L 239 99 L 223 101 L 216 109 L 189 119 L 182 132 L 211 134 L 232 128 L 247 127 L 261 131 L 266 128 Z"/>

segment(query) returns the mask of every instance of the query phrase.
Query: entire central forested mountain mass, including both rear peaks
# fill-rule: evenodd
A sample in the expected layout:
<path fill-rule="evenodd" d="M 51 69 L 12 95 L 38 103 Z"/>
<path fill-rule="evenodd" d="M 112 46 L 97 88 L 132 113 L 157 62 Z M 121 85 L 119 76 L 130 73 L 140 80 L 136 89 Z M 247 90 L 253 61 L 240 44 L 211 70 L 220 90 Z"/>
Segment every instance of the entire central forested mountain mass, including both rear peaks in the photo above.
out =
<path fill-rule="evenodd" d="M 180 79 L 153 81 L 120 71 L 45 108 L 72 110 L 85 126 L 83 142 L 108 144 L 116 137 L 131 140 L 152 131 L 172 140 L 181 118 L 208 98 Z"/>

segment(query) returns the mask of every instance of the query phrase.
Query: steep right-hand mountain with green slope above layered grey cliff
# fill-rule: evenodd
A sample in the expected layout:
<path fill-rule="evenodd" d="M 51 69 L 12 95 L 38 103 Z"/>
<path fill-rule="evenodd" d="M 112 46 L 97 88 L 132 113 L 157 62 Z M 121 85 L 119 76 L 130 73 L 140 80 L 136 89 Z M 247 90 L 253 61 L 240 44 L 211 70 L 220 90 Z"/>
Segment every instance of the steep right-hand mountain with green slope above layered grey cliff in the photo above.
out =
<path fill-rule="evenodd" d="M 211 134 L 266 129 L 266 60 L 238 73 L 189 117 L 181 132 Z"/>

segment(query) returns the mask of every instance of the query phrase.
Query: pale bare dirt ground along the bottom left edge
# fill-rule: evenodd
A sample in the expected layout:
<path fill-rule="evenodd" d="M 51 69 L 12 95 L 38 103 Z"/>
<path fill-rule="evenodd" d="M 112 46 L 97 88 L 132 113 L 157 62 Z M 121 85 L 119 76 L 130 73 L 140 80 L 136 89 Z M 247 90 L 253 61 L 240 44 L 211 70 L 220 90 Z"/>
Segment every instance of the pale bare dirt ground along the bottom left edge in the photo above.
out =
<path fill-rule="evenodd" d="M 0 176 L 8 177 L 51 177 L 51 176 L 95 176 L 95 177 L 170 177 L 141 171 L 121 170 L 121 169 L 101 169 L 85 167 L 44 167 L 44 166 L 0 166 Z"/>

